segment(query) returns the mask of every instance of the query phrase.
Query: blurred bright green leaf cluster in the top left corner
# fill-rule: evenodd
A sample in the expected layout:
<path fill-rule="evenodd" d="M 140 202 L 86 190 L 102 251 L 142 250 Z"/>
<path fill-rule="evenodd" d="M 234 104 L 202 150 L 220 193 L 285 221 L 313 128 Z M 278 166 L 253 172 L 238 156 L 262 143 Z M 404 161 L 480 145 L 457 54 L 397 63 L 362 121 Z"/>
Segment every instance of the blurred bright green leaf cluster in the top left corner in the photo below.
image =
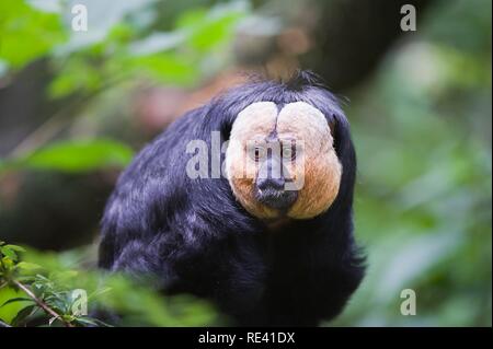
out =
<path fill-rule="evenodd" d="M 167 83 L 196 82 L 204 73 L 210 74 L 213 66 L 223 63 L 220 48 L 231 39 L 232 28 L 248 10 L 240 1 L 193 8 L 175 19 L 171 31 L 151 32 L 154 1 L 122 1 L 112 7 L 92 0 L 39 2 L 47 3 L 42 8 L 49 12 L 24 0 L 2 2 L 0 60 L 15 71 L 48 56 L 56 72 L 48 89 L 53 98 L 93 93 L 115 80 L 131 81 L 142 73 Z M 54 2 L 59 4 L 48 5 Z M 74 3 L 90 9 L 90 31 L 71 31 L 72 19 L 62 16 Z M 142 12 L 150 19 L 135 15 Z"/>

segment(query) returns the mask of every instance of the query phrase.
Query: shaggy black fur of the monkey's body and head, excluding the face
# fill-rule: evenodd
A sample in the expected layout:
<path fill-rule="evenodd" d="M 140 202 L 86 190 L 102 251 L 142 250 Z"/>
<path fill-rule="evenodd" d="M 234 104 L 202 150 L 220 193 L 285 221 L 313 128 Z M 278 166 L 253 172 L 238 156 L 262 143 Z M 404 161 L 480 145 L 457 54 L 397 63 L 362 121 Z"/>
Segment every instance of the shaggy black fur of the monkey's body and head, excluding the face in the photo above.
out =
<path fill-rule="evenodd" d="M 185 173 L 190 140 L 210 146 L 214 130 L 227 140 L 238 113 L 260 101 L 320 109 L 343 165 L 331 208 L 276 232 L 236 201 L 226 178 Z M 181 117 L 122 174 L 102 222 L 100 266 L 154 275 L 165 292 L 208 299 L 238 325 L 317 325 L 342 311 L 364 276 L 353 239 L 355 171 L 348 123 L 314 75 L 242 85 Z"/>

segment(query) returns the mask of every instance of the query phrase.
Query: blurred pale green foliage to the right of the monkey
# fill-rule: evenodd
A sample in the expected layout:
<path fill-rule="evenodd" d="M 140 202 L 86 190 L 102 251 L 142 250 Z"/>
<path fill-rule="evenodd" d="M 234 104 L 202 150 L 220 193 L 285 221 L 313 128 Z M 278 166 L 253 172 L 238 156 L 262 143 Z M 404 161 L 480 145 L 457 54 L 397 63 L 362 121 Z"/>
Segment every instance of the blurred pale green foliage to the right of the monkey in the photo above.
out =
<path fill-rule="evenodd" d="M 469 43 L 491 11 L 448 4 L 347 108 L 368 275 L 335 325 L 491 326 L 491 47 Z M 449 23 L 469 34 L 452 39 Z M 403 289 L 416 316 L 400 313 Z"/>

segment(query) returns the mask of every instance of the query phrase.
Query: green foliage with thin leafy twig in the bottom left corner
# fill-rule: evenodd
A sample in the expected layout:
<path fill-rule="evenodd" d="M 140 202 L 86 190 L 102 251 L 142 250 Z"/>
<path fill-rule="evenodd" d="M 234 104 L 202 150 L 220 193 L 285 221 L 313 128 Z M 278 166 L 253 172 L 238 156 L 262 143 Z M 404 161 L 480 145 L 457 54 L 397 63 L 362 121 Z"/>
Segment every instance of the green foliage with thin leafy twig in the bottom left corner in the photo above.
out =
<path fill-rule="evenodd" d="M 78 266 L 80 257 L 77 252 L 39 254 L 0 242 L 0 322 L 4 326 L 114 325 L 100 318 L 104 314 L 111 314 L 108 322 L 127 326 L 204 326 L 219 321 L 202 301 L 163 299 L 142 280 L 137 284 L 123 275 L 85 270 Z"/>

